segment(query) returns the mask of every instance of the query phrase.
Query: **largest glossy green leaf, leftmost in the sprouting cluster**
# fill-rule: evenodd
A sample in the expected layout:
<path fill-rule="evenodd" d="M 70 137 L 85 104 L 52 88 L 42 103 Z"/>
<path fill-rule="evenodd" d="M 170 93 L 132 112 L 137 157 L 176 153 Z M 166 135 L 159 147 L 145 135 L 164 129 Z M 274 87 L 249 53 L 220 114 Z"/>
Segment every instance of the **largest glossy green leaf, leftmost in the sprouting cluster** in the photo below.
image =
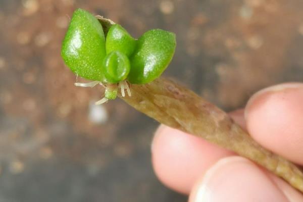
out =
<path fill-rule="evenodd" d="M 61 55 L 65 64 L 78 76 L 102 81 L 106 56 L 102 25 L 89 12 L 77 9 L 63 40 Z"/>

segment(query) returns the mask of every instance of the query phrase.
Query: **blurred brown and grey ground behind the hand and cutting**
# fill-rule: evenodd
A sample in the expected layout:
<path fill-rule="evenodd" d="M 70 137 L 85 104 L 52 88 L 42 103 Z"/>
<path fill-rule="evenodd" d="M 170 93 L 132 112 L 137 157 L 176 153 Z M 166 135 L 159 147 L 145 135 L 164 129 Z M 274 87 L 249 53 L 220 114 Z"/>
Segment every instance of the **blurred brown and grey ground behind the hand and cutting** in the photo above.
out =
<path fill-rule="evenodd" d="M 79 88 L 60 57 L 76 8 L 135 36 L 177 34 L 165 75 L 224 110 L 302 81 L 300 0 L 0 0 L 0 201 L 186 201 L 150 163 L 158 123 L 101 87 Z"/>

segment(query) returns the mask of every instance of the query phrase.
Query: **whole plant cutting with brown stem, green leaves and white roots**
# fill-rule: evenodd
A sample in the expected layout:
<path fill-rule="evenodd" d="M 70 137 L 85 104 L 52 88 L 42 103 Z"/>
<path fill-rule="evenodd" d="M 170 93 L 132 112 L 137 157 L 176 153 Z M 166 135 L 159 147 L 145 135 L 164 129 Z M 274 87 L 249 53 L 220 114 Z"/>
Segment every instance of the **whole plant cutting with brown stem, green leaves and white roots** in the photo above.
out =
<path fill-rule="evenodd" d="M 96 104 L 119 96 L 160 123 L 230 149 L 303 192 L 303 173 L 295 164 L 259 145 L 216 106 L 160 77 L 175 47 L 171 32 L 154 29 L 134 39 L 121 25 L 78 9 L 63 41 L 62 57 L 77 76 L 91 80 L 76 86 L 105 86 L 105 96 Z"/>

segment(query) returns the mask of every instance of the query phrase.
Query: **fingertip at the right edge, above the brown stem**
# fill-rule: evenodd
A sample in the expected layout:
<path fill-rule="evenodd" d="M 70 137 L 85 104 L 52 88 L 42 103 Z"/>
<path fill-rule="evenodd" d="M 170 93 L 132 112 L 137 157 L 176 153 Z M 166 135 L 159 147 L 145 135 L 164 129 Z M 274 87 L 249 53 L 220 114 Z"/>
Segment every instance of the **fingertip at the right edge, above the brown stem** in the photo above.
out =
<path fill-rule="evenodd" d="M 252 96 L 245 108 L 247 130 L 264 147 L 303 164 L 303 84 L 286 83 Z"/>

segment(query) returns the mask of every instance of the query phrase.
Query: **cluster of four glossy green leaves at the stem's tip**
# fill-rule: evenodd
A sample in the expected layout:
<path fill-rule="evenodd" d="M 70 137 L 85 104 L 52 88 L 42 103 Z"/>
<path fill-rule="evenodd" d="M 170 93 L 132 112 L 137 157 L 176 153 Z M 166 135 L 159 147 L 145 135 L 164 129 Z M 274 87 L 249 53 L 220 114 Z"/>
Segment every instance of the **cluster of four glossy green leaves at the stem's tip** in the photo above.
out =
<path fill-rule="evenodd" d="M 105 38 L 99 21 L 89 12 L 77 9 L 61 55 L 66 65 L 83 78 L 103 83 L 127 80 L 145 84 L 163 73 L 175 47 L 175 34 L 161 29 L 149 30 L 136 40 L 115 24 Z"/>

